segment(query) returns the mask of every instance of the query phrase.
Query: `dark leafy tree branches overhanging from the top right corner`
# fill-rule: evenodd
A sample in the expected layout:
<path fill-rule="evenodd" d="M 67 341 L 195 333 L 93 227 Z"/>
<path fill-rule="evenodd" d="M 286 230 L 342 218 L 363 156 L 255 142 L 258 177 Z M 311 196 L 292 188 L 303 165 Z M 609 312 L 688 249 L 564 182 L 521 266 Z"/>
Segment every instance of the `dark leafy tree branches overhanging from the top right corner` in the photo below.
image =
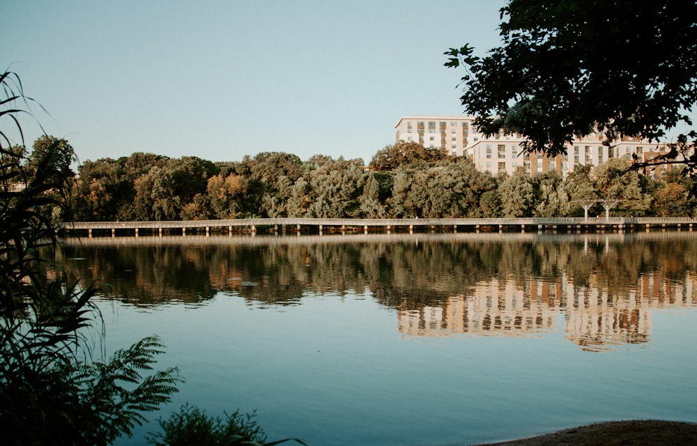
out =
<path fill-rule="evenodd" d="M 697 3 L 664 0 L 510 0 L 503 44 L 485 57 L 445 52 L 462 77 L 466 112 L 485 134 L 519 133 L 524 150 L 565 153 L 598 131 L 657 140 L 691 125 L 697 104 Z M 691 132 L 691 137 L 697 136 Z M 697 169 L 694 141 L 663 162 Z"/>

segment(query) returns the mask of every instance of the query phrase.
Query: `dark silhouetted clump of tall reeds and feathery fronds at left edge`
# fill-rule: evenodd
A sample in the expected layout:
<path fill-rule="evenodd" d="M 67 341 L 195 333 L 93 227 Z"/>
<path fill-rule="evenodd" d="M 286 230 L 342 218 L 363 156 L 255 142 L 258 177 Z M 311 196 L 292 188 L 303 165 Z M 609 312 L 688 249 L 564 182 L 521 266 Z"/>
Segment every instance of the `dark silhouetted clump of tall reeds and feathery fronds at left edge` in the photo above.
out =
<path fill-rule="evenodd" d="M 19 77 L 0 74 L 0 432 L 3 445 L 107 445 L 170 401 L 177 369 L 151 376 L 164 347 L 148 337 L 93 360 L 103 336 L 92 298 L 96 284 L 54 263 L 54 217 L 72 183 L 63 157 L 72 150 L 47 138 L 26 157 L 18 117 L 29 98 Z M 19 104 L 20 107 L 17 107 Z M 8 124 L 9 128 L 5 127 Z M 99 330 L 102 328 L 102 330 Z"/>

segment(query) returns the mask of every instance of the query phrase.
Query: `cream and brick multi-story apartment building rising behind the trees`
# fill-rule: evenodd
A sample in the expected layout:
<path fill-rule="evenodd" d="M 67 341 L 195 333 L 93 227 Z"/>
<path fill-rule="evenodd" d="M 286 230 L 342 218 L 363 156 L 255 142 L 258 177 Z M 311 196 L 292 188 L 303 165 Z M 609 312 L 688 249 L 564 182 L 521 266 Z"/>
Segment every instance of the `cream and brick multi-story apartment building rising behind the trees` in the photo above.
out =
<path fill-rule="evenodd" d="M 664 144 L 639 139 L 613 141 L 604 145 L 602 134 L 592 134 L 574 141 L 566 155 L 550 158 L 542 154 L 523 154 L 519 134 L 497 134 L 487 138 L 473 124 L 473 116 L 410 116 L 400 118 L 396 141 L 414 141 L 424 147 L 441 147 L 452 155 L 466 156 L 482 171 L 491 174 L 505 171 L 512 174 L 523 167 L 530 174 L 557 171 L 566 177 L 579 164 L 597 166 L 611 157 L 633 157 L 649 160 L 666 151 Z M 659 178 L 668 169 L 665 165 L 652 172 Z"/>

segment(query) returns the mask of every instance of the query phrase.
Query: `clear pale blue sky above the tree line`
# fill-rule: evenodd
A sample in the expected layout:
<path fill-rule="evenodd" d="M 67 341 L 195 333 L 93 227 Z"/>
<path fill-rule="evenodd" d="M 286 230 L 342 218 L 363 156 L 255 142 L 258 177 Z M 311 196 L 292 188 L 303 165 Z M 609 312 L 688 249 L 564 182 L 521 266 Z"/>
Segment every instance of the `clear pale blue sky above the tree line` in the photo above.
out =
<path fill-rule="evenodd" d="M 505 0 L 3 1 L 1 68 L 80 158 L 361 157 L 401 116 L 462 114 L 450 47 L 498 46 Z M 26 141 L 39 130 L 24 121 Z"/>

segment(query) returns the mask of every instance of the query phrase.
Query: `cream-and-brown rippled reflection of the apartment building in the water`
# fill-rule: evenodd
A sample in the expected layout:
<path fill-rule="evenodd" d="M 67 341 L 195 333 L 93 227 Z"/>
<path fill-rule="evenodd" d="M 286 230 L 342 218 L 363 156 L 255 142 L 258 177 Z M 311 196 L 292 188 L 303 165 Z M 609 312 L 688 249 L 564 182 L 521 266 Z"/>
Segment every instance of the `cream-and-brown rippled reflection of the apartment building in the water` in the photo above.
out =
<path fill-rule="evenodd" d="M 400 310 L 397 318 L 399 331 L 411 336 L 521 336 L 556 328 L 561 314 L 569 341 L 599 351 L 648 342 L 652 310 L 696 306 L 696 281 L 694 272 L 684 281 L 657 272 L 641 276 L 632 289 L 608 293 L 594 278 L 590 284 L 574 284 L 572 277 L 557 282 L 492 279 L 441 305 Z"/>

